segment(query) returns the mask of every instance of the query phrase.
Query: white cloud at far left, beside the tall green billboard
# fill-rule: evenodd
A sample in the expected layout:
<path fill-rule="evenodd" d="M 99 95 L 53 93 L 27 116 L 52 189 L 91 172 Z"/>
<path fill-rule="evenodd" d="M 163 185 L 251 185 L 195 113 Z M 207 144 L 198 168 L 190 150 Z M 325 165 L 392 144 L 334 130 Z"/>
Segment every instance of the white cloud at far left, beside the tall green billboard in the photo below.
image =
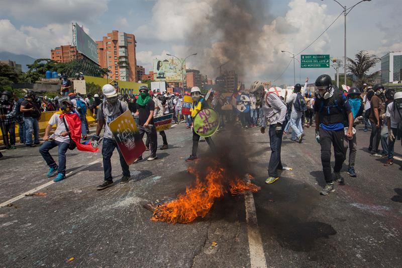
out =
<path fill-rule="evenodd" d="M 71 42 L 70 27 L 70 24 L 48 24 L 17 29 L 9 20 L 0 20 L 0 51 L 50 58 L 51 48 Z"/>

